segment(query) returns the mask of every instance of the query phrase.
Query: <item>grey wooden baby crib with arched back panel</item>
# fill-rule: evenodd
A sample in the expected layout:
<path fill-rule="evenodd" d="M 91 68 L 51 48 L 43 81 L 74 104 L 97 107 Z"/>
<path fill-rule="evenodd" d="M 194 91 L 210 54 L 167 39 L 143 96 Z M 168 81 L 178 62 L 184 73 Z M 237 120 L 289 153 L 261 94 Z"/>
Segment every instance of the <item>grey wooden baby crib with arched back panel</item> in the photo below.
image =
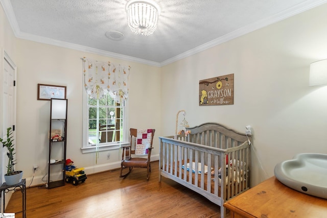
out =
<path fill-rule="evenodd" d="M 251 136 L 217 123 L 205 123 L 188 136 L 159 137 L 161 176 L 188 187 L 219 205 L 250 188 Z"/>

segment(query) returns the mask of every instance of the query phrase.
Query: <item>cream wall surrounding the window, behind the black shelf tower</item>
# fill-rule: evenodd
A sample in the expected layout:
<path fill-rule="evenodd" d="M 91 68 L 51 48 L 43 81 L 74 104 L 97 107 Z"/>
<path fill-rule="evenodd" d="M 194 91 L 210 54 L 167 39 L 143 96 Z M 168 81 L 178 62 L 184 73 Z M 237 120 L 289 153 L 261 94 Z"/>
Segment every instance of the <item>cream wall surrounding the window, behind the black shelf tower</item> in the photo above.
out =
<path fill-rule="evenodd" d="M 67 158 L 86 174 L 120 166 L 119 150 L 82 154 L 82 57 L 130 65 L 127 128 L 154 128 L 160 135 L 159 68 L 108 58 L 58 46 L 16 39 L 17 47 L 17 169 L 32 178 L 33 164 L 39 169 L 33 184 L 48 172 L 50 101 L 37 100 L 37 84 L 67 86 Z M 154 140 L 158 155 L 158 140 Z M 29 183 L 30 180 L 27 181 Z"/>

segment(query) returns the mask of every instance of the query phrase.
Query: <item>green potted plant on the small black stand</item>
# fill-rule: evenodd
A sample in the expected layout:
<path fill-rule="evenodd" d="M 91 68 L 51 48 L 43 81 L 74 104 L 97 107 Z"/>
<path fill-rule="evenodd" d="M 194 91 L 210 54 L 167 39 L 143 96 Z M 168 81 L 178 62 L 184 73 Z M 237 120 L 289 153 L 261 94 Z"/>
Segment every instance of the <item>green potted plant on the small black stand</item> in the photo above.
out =
<path fill-rule="evenodd" d="M 7 174 L 5 174 L 5 181 L 7 185 L 15 185 L 21 181 L 22 171 L 15 171 L 14 165 L 16 164 L 16 160 L 14 159 L 15 153 L 15 144 L 13 143 L 14 139 L 12 138 L 13 132 L 11 127 L 7 128 L 7 140 L 0 138 L 0 142 L 3 143 L 3 147 L 6 147 L 8 152 L 7 156 L 8 166 L 7 166 Z"/>

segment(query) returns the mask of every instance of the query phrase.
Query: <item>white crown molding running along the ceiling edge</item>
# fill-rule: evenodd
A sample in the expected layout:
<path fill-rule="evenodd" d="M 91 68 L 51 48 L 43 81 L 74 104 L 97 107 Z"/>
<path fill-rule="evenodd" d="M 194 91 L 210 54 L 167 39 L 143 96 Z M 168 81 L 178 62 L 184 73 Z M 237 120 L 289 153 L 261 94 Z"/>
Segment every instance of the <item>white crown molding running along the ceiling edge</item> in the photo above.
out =
<path fill-rule="evenodd" d="M 69 42 L 63 42 L 63 41 L 59 41 L 59 40 L 54 40 L 51 38 L 46 38 L 46 37 L 42 37 L 42 36 L 36 36 L 36 35 L 32 35 L 32 34 L 28 34 L 28 33 L 22 33 L 19 30 L 19 26 L 18 23 L 16 21 L 15 15 L 13 13 L 13 9 L 12 6 L 10 4 L 9 0 L 0 0 L 0 3 L 2 4 L 4 11 L 8 17 L 9 23 L 13 29 L 13 32 L 15 34 L 15 36 L 17 38 L 21 38 L 21 39 L 27 39 L 27 40 L 31 40 L 31 41 L 35 41 L 35 42 L 41 42 L 41 43 L 45 43 L 45 44 L 51 44 L 51 45 L 56 45 L 56 46 L 60 46 L 60 47 L 66 47 L 68 49 L 74 49 L 74 50 L 78 50 L 78 51 L 83 51 L 83 52 L 88 52 L 88 53 L 93 53 L 93 54 L 98 54 L 98 55 L 103 55 L 106 57 L 112 57 L 112 58 L 118 58 L 118 59 L 122 59 L 122 60 L 127 60 L 127 61 L 133 61 L 133 62 L 137 62 L 137 63 L 142 63 L 142 64 L 147 64 L 147 65 L 151 65 L 151 66 L 157 66 L 157 67 L 161 67 L 161 66 L 165 66 L 168 64 L 171 64 L 175 61 L 181 60 L 183 58 L 189 57 L 191 55 L 197 54 L 199 52 L 202 52 L 204 50 L 207 50 L 213 46 L 222 44 L 226 41 L 235 39 L 239 36 L 245 35 L 247 33 L 253 32 L 255 30 L 261 29 L 263 27 L 269 26 L 272 23 L 281 21 L 283 19 L 286 19 L 288 17 L 294 16 L 296 14 L 299 14 L 301 12 L 307 11 L 309 9 L 312 9 L 314 7 L 317 7 L 319 5 L 325 4 L 327 3 L 327 0 L 307 0 L 303 3 L 300 3 L 292 8 L 289 8 L 287 10 L 284 10 L 280 13 L 277 13 L 273 16 L 270 16 L 269 18 L 266 19 L 262 19 L 259 21 L 256 21 L 254 23 L 252 23 L 251 25 L 245 26 L 243 28 L 240 28 L 238 30 L 235 30 L 233 32 L 230 32 L 222 37 L 219 37 L 217 39 L 214 39 L 212 41 L 209 41 L 207 43 L 204 43 L 200 46 L 195 47 L 194 49 L 191 49 L 189 51 L 186 51 L 184 53 L 181 53 L 179 55 L 176 55 L 172 58 L 169 58 L 165 61 L 162 62 L 155 62 L 155 61 L 149 61 L 149 60 L 145 60 L 145 59 L 141 59 L 141 58 L 135 58 L 135 57 L 131 57 L 131 56 L 126 56 L 126 55 L 121 55 L 121 54 L 117 54 L 117 53 L 112 53 L 112 52 L 107 52 L 104 50 L 98 50 L 98 49 L 94 49 L 92 47 L 87 47 L 87 46 L 83 46 L 83 45 L 78 45 L 78 44 L 74 44 L 74 43 L 69 43 Z"/>

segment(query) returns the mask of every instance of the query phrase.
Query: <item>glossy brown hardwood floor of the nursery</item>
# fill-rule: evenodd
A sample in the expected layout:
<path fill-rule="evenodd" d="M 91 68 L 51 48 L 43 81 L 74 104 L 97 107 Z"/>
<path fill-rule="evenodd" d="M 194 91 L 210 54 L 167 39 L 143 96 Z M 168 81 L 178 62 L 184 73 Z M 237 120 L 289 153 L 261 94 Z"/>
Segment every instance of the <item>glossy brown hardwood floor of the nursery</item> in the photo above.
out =
<path fill-rule="evenodd" d="M 146 169 L 134 168 L 126 178 L 119 178 L 117 169 L 87 175 L 77 186 L 27 188 L 27 217 L 220 217 L 220 207 L 198 193 L 164 177 L 158 182 L 158 161 L 151 171 L 149 181 Z M 6 212 L 20 210 L 16 191 Z"/>

